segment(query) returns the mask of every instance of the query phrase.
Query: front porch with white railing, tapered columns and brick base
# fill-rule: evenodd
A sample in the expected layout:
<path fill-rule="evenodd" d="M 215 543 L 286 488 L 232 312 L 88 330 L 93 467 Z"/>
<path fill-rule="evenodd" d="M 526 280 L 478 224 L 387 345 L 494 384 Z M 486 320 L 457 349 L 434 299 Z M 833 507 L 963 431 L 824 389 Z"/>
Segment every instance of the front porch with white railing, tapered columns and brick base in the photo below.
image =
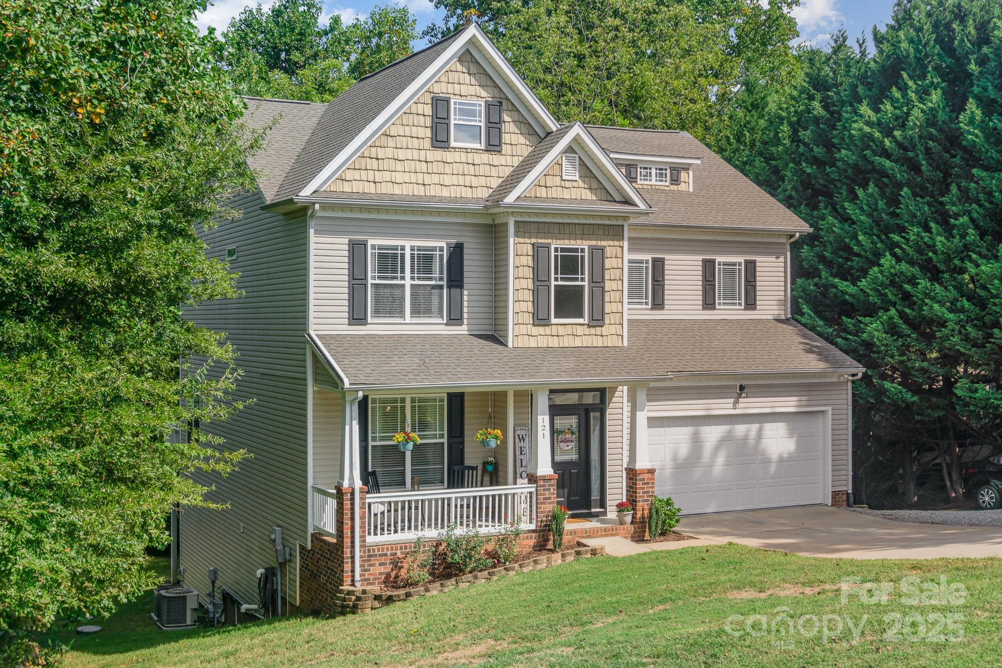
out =
<path fill-rule="evenodd" d="M 645 447 L 634 445 L 634 456 L 624 461 L 622 426 L 624 395 L 631 393 L 631 413 L 637 413 L 644 391 L 366 394 L 315 387 L 315 533 L 302 567 L 308 589 L 390 586 L 414 542 L 435 541 L 450 526 L 490 537 L 516 524 L 521 549 L 548 547 L 550 512 L 558 504 L 580 518 L 566 527 L 568 546 L 579 538 L 642 535 L 653 475 L 634 466 Z M 646 420 L 642 410 L 630 416 L 630 422 L 640 418 L 634 438 L 643 438 Z M 496 448 L 474 439 L 486 427 L 503 432 Z M 420 443 L 402 452 L 393 443 L 399 431 L 415 432 Z M 493 471 L 487 471 L 489 457 Z M 623 498 L 637 506 L 632 526 L 619 526 L 614 517 Z"/>

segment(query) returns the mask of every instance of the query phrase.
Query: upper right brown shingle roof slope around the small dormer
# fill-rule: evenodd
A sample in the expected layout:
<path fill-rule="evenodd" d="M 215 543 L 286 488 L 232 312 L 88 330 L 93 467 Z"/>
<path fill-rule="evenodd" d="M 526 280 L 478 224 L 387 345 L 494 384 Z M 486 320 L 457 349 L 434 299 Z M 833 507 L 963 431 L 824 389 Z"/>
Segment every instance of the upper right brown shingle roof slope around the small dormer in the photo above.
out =
<path fill-rule="evenodd" d="M 688 132 L 588 125 L 599 145 L 610 153 L 633 153 L 702 160 L 694 165 L 692 192 L 642 188 L 640 194 L 657 210 L 641 222 L 722 227 L 810 229 L 786 206 L 753 183 Z"/>

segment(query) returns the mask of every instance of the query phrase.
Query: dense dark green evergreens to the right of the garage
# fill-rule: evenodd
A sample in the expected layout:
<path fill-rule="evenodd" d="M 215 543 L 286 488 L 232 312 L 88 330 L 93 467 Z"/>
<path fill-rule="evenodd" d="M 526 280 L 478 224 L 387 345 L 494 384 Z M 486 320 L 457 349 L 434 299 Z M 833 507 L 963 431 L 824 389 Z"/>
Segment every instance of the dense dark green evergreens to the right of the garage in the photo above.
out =
<path fill-rule="evenodd" d="M 742 91 L 759 117 L 728 155 L 816 229 L 798 317 L 869 369 L 861 462 L 900 470 L 909 502 L 916 463 L 942 462 L 956 498 L 1002 417 L 1002 5 L 901 0 L 873 36 L 872 57 L 839 36 L 789 90 Z"/>

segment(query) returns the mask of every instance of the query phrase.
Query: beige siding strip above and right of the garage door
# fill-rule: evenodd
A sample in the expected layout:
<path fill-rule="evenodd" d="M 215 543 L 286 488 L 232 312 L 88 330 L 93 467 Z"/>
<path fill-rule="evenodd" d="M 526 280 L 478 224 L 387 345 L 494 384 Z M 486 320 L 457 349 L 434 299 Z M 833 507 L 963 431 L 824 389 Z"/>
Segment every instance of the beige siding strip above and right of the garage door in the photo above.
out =
<path fill-rule="evenodd" d="M 650 387 L 647 390 L 647 413 L 666 411 L 719 411 L 816 408 L 832 409 L 832 489 L 846 489 L 849 464 L 847 419 L 849 393 L 847 383 L 791 382 L 747 383 L 747 398 L 735 398 L 735 385 L 677 385 Z"/>

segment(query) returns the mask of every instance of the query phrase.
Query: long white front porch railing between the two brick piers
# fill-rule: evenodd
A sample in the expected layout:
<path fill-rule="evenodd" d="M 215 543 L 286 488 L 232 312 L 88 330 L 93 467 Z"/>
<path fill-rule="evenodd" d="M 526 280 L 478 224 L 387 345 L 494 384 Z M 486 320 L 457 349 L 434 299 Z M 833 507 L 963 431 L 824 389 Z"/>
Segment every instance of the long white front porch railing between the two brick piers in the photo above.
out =
<path fill-rule="evenodd" d="M 455 524 L 460 531 L 501 533 L 511 522 L 536 528 L 536 486 L 391 492 L 366 497 L 368 543 L 434 538 Z"/>

